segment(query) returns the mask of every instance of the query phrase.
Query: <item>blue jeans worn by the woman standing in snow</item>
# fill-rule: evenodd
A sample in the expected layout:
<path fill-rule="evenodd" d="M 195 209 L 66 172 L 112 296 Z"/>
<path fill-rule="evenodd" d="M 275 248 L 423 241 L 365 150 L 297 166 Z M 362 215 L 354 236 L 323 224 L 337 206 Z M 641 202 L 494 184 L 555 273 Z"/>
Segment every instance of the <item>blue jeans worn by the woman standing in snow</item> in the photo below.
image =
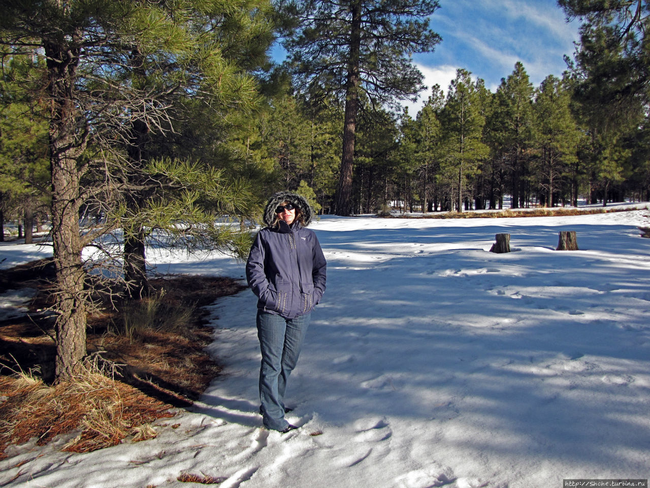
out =
<path fill-rule="evenodd" d="M 284 394 L 289 375 L 298 362 L 310 318 L 311 314 L 306 314 L 285 319 L 257 311 L 257 337 L 262 351 L 259 399 L 263 422 L 268 429 L 282 430 L 288 425 L 284 418 Z"/>

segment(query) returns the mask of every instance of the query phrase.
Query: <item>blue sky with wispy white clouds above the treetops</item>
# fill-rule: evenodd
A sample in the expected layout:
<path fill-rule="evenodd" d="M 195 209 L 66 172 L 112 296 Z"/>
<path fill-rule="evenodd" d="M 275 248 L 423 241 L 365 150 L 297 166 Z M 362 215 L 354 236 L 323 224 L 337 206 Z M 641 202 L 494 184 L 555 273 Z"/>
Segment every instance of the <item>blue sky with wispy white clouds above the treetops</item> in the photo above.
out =
<path fill-rule="evenodd" d="M 573 55 L 578 21 L 567 23 L 555 0 L 439 0 L 430 27 L 443 37 L 433 53 L 415 55 L 428 87 L 447 88 L 456 69 L 485 80 L 495 91 L 521 61 L 534 86 L 562 75 L 564 55 Z M 426 99 L 429 91 L 423 92 Z M 422 102 L 409 104 L 415 116 Z"/>

